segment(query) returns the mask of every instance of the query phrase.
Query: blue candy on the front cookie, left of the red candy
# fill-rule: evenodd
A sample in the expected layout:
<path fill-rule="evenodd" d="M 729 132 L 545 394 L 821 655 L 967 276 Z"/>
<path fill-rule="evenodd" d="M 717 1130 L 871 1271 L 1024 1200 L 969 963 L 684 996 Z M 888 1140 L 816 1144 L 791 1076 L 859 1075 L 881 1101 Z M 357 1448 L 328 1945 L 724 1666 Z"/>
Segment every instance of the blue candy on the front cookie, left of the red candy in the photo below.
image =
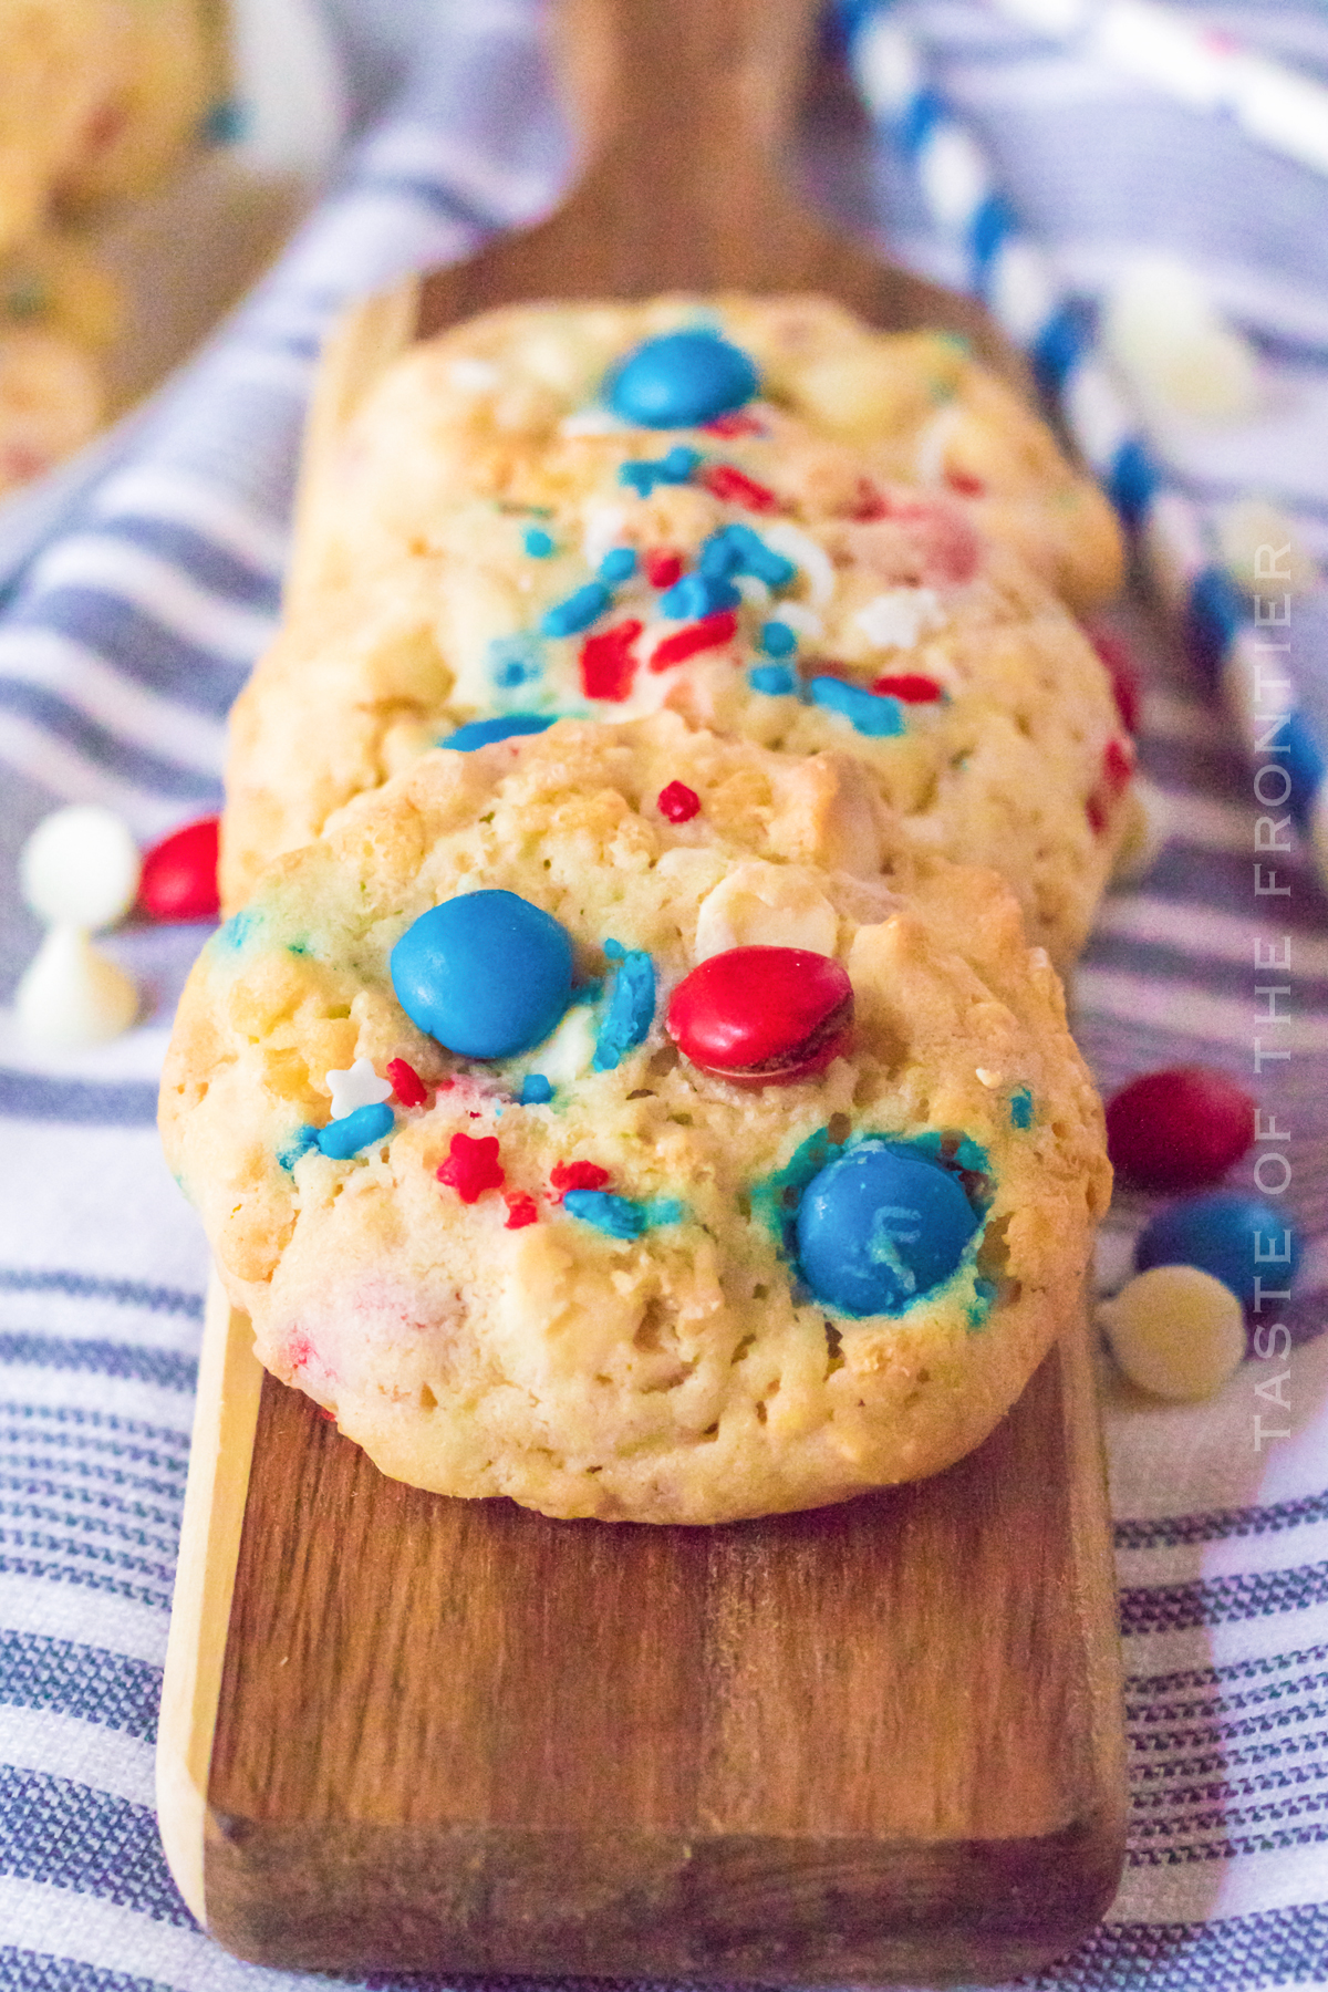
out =
<path fill-rule="evenodd" d="M 516 892 L 460 892 L 392 948 L 392 988 L 420 1030 L 462 1058 L 542 1044 L 571 996 L 571 940 Z"/>

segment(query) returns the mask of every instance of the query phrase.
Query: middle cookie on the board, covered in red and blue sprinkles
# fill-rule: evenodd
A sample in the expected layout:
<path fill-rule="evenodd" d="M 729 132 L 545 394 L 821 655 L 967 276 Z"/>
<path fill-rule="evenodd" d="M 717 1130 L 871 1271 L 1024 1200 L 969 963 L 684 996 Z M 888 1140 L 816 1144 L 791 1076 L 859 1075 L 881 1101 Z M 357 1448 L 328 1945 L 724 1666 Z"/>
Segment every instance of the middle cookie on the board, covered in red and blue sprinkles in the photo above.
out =
<path fill-rule="evenodd" d="M 229 904 L 275 853 L 474 721 L 665 705 L 790 753 L 852 749 L 914 839 L 1001 871 L 1031 938 L 1073 962 L 1125 835 L 1133 751 L 1101 659 L 1015 552 L 952 494 L 868 474 L 866 456 L 808 444 L 759 402 L 741 432 L 685 442 L 555 432 L 504 458 L 502 478 L 476 432 L 462 474 L 456 448 L 434 456 L 416 394 L 434 365 L 408 361 L 398 382 L 414 382 L 434 498 L 410 536 L 382 524 L 386 496 L 378 542 L 356 524 L 364 568 L 315 592 L 233 713 Z M 404 450 L 398 412 L 386 434 Z M 814 504 L 800 446 L 824 472 Z"/>

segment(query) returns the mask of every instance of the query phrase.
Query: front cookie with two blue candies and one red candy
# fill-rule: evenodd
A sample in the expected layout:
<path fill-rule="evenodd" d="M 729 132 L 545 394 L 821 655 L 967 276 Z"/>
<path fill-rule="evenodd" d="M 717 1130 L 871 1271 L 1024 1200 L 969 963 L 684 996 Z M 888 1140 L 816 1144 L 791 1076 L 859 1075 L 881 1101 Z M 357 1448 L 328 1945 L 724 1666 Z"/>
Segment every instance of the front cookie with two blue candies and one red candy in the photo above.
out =
<path fill-rule="evenodd" d="M 528 902 L 573 958 L 552 1036 L 488 1060 L 394 986 L 418 922 L 470 894 Z M 733 948 L 814 958 L 782 1038 L 713 1028 L 769 976 L 679 996 Z M 822 1064 L 834 962 L 854 1014 Z M 500 974 L 480 950 L 472 994 Z M 743 1072 L 687 1056 L 699 1016 Z M 456 1034 L 448 1004 L 432 1020 Z M 1059 982 L 999 880 L 892 845 L 852 757 L 669 713 L 430 753 L 277 861 L 191 976 L 161 1125 L 261 1359 L 384 1472 L 639 1522 L 962 1456 L 1077 1307 L 1109 1181 Z M 842 1249 L 912 1293 L 870 1315 L 816 1291 L 824 1227 L 802 1267 L 798 1219 L 838 1163 L 894 1153 L 942 1179 L 950 1243 L 922 1267 L 880 1199 L 850 1217 Z"/>

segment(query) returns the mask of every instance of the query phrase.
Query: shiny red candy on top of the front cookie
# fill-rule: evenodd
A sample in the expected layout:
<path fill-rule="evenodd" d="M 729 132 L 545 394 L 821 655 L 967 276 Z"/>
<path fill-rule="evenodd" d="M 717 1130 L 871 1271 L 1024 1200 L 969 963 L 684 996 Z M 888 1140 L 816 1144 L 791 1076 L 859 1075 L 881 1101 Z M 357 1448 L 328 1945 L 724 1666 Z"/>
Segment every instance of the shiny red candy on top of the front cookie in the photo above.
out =
<path fill-rule="evenodd" d="M 788 1086 L 824 1072 L 850 1024 L 846 970 L 806 948 L 711 954 L 673 990 L 667 1016 L 679 1052 L 735 1086 Z"/>

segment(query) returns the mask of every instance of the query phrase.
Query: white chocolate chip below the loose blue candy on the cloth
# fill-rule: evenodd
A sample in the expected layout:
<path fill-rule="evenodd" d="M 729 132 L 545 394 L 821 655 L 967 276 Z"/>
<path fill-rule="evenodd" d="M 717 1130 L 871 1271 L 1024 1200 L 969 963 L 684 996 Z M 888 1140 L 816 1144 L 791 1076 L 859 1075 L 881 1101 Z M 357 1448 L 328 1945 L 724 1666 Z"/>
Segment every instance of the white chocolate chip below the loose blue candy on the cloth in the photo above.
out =
<path fill-rule="evenodd" d="M 1244 1361 L 1236 1295 L 1197 1265 L 1155 1265 L 1097 1309 L 1111 1355 L 1151 1396 L 1215 1396 Z"/>

